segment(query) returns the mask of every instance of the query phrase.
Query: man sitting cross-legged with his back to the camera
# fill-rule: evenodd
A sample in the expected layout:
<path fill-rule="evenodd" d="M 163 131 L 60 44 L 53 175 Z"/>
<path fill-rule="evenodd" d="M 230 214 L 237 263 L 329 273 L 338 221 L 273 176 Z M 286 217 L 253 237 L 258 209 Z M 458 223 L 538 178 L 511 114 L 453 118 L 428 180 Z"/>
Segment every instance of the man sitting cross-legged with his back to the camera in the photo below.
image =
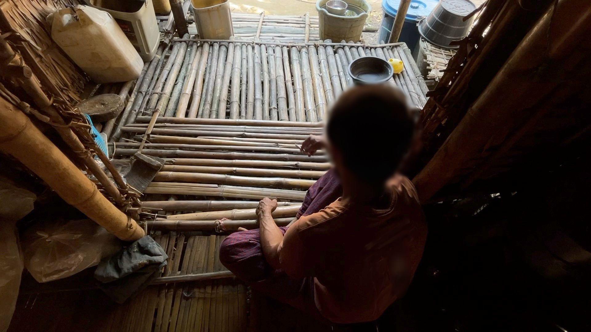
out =
<path fill-rule="evenodd" d="M 413 184 L 397 173 L 413 123 L 400 90 L 344 92 L 326 125 L 334 167 L 310 188 L 297 221 L 278 227 L 271 216 L 277 201 L 264 198 L 260 229 L 226 237 L 223 265 L 256 291 L 321 320 L 376 320 L 406 291 L 427 236 Z"/>

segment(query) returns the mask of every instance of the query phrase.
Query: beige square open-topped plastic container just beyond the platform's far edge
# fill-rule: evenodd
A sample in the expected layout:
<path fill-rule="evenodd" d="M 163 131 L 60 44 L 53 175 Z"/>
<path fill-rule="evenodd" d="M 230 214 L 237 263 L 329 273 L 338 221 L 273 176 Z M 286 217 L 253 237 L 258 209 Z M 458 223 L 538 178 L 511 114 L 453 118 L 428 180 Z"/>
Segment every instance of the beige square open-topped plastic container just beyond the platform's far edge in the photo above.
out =
<path fill-rule="evenodd" d="M 197 32 L 203 39 L 229 39 L 234 34 L 230 3 L 191 0 Z"/>

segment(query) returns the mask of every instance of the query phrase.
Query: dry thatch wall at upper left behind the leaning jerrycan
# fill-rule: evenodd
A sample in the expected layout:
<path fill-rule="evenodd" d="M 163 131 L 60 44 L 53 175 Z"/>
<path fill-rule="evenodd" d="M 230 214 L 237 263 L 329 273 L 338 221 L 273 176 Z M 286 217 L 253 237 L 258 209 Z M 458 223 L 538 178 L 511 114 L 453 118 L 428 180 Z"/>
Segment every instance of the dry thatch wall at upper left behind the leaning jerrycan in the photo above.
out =
<path fill-rule="evenodd" d="M 6 38 L 16 45 L 46 93 L 70 106 L 80 102 L 86 76 L 51 40 L 46 17 L 76 4 L 76 0 L 0 1 L 0 34 L 12 32 Z"/>

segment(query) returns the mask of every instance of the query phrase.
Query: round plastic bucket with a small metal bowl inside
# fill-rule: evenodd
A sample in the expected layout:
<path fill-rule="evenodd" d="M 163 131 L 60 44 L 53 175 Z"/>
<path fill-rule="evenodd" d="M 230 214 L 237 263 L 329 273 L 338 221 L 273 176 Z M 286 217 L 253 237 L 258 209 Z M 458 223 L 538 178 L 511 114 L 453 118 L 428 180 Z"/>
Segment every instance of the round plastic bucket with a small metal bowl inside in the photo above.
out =
<path fill-rule="evenodd" d="M 361 12 L 355 16 L 330 14 L 326 8 L 328 0 L 316 2 L 316 10 L 320 24 L 320 40 L 330 39 L 336 43 L 345 40 L 358 42 L 363 32 L 363 25 L 371 12 L 371 6 L 365 0 L 345 0 L 348 9 L 359 8 Z"/>

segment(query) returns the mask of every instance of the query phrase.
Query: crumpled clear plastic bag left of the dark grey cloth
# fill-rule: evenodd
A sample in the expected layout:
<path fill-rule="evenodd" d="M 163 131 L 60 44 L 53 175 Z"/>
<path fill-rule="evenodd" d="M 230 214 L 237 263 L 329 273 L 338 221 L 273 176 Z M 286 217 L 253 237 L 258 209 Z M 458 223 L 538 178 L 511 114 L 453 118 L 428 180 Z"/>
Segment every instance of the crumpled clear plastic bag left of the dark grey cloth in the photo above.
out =
<path fill-rule="evenodd" d="M 21 241 L 25 267 L 38 282 L 74 275 L 123 247 L 115 235 L 88 219 L 34 224 Z"/>

